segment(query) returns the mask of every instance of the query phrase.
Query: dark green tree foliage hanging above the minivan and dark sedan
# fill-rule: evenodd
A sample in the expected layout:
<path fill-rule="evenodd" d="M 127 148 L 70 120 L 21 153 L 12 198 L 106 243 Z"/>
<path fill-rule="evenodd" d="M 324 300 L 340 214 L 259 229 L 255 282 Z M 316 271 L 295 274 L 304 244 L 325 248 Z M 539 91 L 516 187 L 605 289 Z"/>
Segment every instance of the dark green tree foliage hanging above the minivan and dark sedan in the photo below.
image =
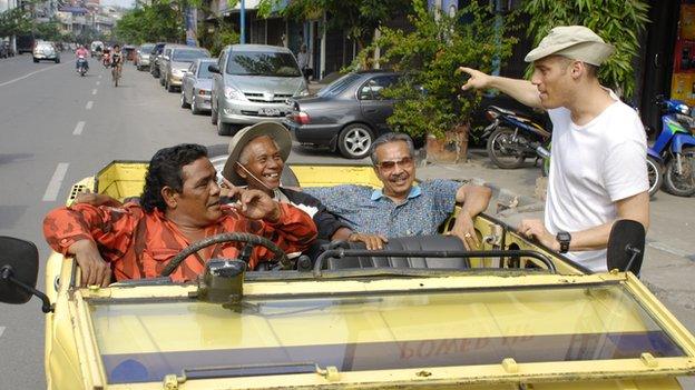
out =
<path fill-rule="evenodd" d="M 412 10 L 411 0 L 293 0 L 285 8 L 284 0 L 261 0 L 258 14 L 267 18 L 273 13 L 295 20 L 329 18 L 325 28 L 331 31 L 346 31 L 350 39 L 363 48 L 371 40 L 374 29 L 399 14 Z"/>

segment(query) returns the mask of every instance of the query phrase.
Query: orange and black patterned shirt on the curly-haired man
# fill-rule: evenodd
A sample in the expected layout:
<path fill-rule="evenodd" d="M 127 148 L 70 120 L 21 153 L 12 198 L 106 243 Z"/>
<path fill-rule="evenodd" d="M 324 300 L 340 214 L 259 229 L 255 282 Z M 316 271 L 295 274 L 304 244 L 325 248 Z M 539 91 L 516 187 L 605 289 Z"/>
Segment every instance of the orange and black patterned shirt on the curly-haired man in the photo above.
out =
<path fill-rule="evenodd" d="M 247 232 L 270 239 L 285 253 L 306 250 L 316 238 L 316 226 L 302 210 L 278 204 L 281 218 L 276 223 L 251 220 L 223 206 L 223 217 L 205 229 L 205 237 Z M 116 280 L 157 278 L 169 260 L 192 243 L 161 211 L 145 212 L 137 203 L 126 203 L 121 208 L 78 203 L 55 209 L 43 220 L 43 236 L 48 244 L 62 254 L 67 254 L 76 241 L 95 241 L 104 260 L 111 263 Z M 205 260 L 198 253 L 190 254 L 172 273 L 172 280 L 195 280 L 203 273 L 205 261 L 236 258 L 243 246 L 243 242 L 223 242 L 208 247 L 198 251 L 209 256 Z M 254 269 L 258 262 L 272 258 L 270 250 L 256 246 L 248 268 Z"/>

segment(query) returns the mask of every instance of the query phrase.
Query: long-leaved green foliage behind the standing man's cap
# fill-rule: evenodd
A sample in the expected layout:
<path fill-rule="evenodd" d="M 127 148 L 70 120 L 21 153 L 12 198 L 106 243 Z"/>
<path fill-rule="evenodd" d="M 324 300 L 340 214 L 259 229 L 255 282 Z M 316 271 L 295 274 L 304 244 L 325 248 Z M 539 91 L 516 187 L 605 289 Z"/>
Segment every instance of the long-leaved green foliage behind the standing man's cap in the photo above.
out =
<path fill-rule="evenodd" d="M 528 27 L 534 43 L 557 26 L 581 24 L 594 30 L 616 52 L 600 67 L 604 84 L 625 97 L 635 93 L 633 60 L 638 54 L 638 36 L 649 22 L 647 1 L 640 0 L 526 0 L 523 11 L 531 16 Z M 529 67 L 527 74 L 530 76 Z"/>

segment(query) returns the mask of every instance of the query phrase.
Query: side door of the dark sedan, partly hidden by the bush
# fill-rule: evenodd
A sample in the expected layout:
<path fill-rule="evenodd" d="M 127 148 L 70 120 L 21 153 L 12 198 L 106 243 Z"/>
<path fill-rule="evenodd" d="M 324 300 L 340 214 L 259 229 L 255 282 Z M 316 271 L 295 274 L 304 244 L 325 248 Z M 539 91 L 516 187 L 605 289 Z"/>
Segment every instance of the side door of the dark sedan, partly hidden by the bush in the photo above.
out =
<path fill-rule="evenodd" d="M 364 120 L 379 132 L 388 132 L 386 118 L 393 113 L 392 99 L 382 96 L 382 91 L 398 81 L 395 74 L 374 76 L 358 89 L 358 100 Z"/>

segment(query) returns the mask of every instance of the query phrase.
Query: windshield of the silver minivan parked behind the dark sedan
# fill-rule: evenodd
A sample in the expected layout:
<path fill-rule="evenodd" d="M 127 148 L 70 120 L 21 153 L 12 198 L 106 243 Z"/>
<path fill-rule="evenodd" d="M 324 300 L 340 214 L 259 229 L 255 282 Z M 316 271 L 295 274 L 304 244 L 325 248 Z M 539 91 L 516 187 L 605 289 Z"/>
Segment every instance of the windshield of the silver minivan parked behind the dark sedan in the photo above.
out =
<path fill-rule="evenodd" d="M 300 77 L 291 53 L 235 51 L 227 61 L 227 73 L 238 76 Z"/>

